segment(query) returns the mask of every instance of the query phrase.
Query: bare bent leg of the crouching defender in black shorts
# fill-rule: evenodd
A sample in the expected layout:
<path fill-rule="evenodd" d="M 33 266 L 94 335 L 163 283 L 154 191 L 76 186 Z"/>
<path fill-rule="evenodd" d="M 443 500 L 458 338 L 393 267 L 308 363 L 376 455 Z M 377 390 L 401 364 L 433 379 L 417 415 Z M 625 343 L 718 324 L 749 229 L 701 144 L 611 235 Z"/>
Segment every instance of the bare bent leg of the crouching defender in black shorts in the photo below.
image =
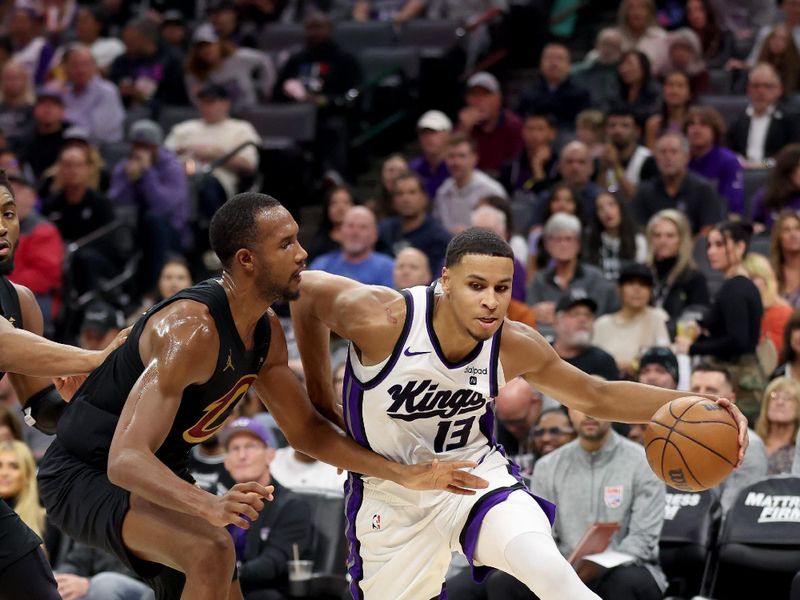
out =
<path fill-rule="evenodd" d="M 225 529 L 132 494 L 122 541 L 136 557 L 184 573 L 182 600 L 228 597 L 236 557 Z"/>

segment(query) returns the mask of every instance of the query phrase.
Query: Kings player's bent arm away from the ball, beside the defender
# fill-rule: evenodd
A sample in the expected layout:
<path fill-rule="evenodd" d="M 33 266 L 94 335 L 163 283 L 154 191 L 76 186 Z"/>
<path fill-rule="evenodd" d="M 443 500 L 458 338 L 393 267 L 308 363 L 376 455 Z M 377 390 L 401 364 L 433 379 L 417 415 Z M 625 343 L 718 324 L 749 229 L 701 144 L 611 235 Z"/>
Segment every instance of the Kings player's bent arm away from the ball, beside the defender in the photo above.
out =
<path fill-rule="evenodd" d="M 306 388 L 317 410 L 341 428 L 344 422 L 332 384 L 331 331 L 353 341 L 366 360 L 380 362 L 391 354 L 403 325 L 402 315 L 393 314 L 394 302 L 405 309 L 400 294 L 388 288 L 323 271 L 303 273 L 300 297 L 291 307 Z"/>

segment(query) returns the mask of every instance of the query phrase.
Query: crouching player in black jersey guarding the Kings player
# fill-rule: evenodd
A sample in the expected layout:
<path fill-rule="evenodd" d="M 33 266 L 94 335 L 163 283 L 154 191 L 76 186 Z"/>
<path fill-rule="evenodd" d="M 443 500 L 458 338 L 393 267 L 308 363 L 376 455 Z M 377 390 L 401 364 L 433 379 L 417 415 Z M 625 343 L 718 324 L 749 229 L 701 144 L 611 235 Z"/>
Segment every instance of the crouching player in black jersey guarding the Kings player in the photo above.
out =
<path fill-rule="evenodd" d="M 305 454 L 414 489 L 472 493 L 485 485 L 461 470 L 474 465 L 466 461 L 389 462 L 337 433 L 313 408 L 288 367 L 283 331 L 269 310 L 298 295 L 307 255 L 297 231 L 269 196 L 240 194 L 223 205 L 210 229 L 222 276 L 179 292 L 137 321 L 69 403 L 40 465 L 51 522 L 116 554 L 160 598 L 242 597 L 231 581 L 235 557 L 224 526 L 246 528 L 272 489 L 252 482 L 214 496 L 192 485 L 187 458 L 251 385 Z"/>

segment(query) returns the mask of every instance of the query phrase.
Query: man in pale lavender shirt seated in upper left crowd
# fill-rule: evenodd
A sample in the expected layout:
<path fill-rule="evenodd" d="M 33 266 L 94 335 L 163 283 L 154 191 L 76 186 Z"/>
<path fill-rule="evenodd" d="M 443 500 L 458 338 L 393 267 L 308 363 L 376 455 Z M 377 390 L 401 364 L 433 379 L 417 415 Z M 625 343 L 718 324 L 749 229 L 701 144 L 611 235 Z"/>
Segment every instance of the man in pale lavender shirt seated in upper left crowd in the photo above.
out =
<path fill-rule="evenodd" d="M 89 132 L 95 144 L 119 142 L 125 109 L 117 87 L 100 77 L 88 46 L 76 44 L 64 53 L 66 119 Z"/>

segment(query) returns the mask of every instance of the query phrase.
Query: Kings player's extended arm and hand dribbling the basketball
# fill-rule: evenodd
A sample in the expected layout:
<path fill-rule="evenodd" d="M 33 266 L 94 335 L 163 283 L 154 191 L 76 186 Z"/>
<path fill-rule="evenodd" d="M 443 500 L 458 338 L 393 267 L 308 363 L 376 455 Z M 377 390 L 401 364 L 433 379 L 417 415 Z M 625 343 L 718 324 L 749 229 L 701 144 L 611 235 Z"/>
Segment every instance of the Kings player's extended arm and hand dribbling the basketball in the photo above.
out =
<path fill-rule="evenodd" d="M 523 376 L 528 383 L 566 406 L 607 421 L 648 423 L 661 406 L 686 396 L 632 381 L 601 381 L 561 360 L 534 329 L 506 321 L 500 359 L 506 378 Z M 711 397 L 728 409 L 739 424 L 740 462 L 747 448 L 747 419 L 736 406 Z"/>

